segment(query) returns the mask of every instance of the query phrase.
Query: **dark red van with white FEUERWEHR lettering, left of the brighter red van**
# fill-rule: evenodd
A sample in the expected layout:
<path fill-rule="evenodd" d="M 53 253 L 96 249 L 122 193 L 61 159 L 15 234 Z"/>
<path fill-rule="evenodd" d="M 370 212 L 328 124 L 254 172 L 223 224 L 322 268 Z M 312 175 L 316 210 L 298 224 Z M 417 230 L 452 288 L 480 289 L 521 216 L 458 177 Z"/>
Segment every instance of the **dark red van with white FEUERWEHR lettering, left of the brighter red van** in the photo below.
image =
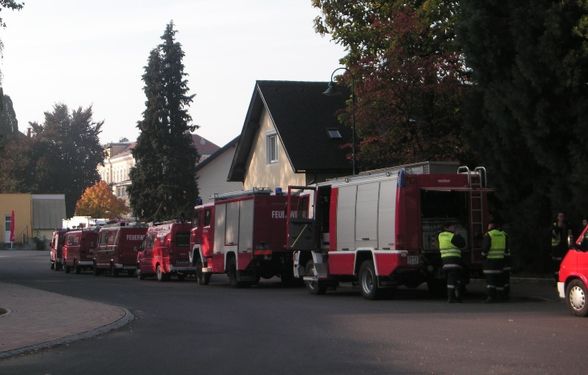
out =
<path fill-rule="evenodd" d="M 105 226 L 98 232 L 98 247 L 94 252 L 94 274 L 105 270 L 112 276 L 125 271 L 129 276 L 137 270 L 137 249 L 141 247 L 147 233 L 146 226 Z"/>

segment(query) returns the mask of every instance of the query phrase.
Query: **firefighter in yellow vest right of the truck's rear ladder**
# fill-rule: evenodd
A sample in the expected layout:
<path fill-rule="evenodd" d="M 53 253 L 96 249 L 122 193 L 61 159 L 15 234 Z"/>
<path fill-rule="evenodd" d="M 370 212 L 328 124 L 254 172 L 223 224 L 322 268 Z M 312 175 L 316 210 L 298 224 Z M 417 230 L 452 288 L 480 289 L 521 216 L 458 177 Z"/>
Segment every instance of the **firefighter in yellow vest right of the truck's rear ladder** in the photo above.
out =
<path fill-rule="evenodd" d="M 506 299 L 510 293 L 510 282 L 505 280 L 505 258 L 509 257 L 508 236 L 502 230 L 498 220 L 488 224 L 488 232 L 482 241 L 482 257 L 484 258 L 484 276 L 488 297 L 486 302 L 494 302 L 498 298 Z M 509 271 L 510 274 L 510 271 Z M 510 277 L 509 277 L 510 279 Z M 508 288 L 508 292 L 507 289 Z"/>

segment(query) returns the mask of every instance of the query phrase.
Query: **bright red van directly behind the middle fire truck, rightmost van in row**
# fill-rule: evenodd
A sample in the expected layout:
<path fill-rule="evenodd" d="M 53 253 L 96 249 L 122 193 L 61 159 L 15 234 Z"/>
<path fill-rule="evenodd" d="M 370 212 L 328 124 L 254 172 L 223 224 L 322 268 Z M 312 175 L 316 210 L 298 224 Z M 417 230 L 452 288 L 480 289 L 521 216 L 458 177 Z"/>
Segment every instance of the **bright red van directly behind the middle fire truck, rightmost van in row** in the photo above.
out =
<path fill-rule="evenodd" d="M 190 263 L 190 230 L 192 224 L 166 222 L 147 229 L 145 241 L 137 253 L 137 277 L 154 275 L 157 280 L 169 280 L 175 275 L 183 280 L 194 274 L 196 267 Z"/>

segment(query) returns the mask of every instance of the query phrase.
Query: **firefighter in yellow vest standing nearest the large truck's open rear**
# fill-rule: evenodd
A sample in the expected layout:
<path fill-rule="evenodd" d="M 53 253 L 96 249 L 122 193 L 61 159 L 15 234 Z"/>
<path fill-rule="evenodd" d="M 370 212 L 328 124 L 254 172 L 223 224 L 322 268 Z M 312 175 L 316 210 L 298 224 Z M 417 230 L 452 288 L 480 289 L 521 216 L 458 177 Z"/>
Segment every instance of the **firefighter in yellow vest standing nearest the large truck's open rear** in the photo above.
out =
<path fill-rule="evenodd" d="M 454 224 L 444 225 L 438 240 L 443 271 L 447 276 L 447 302 L 461 302 L 463 284 L 461 249 L 465 247 L 465 240 L 455 233 Z"/>

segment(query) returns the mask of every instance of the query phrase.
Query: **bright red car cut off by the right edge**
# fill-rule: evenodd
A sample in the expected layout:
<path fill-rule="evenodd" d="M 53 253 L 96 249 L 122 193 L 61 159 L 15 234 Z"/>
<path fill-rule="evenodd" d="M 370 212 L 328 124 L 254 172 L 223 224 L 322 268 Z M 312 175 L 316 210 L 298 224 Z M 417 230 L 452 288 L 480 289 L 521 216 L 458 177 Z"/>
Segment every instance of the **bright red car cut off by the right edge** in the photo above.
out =
<path fill-rule="evenodd" d="M 588 226 L 562 260 L 558 281 L 559 296 L 565 299 L 570 312 L 588 316 Z"/>

